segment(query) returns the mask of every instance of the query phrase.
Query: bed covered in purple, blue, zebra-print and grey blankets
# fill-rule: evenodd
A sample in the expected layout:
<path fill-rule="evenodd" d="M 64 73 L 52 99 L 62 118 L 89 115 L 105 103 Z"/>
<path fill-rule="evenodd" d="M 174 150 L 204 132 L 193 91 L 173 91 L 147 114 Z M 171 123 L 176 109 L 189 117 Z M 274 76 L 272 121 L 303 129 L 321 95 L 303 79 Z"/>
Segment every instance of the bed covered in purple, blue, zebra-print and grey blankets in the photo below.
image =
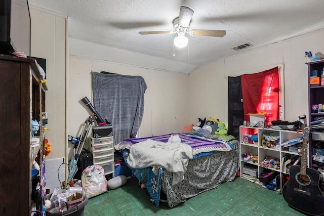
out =
<path fill-rule="evenodd" d="M 170 143 L 172 136 L 181 139 L 182 145 L 179 148 L 185 147 L 180 154 L 175 154 L 180 155 L 181 160 L 184 158 L 184 161 L 180 165 L 178 164 L 176 168 L 170 168 L 168 161 L 166 161 L 168 164 L 158 164 L 159 162 L 150 159 L 146 164 L 145 158 L 148 156 L 156 158 L 168 154 L 162 151 L 158 154 L 156 152 L 150 154 L 149 149 L 152 148 L 152 145 L 156 146 L 154 142 L 165 148 L 163 143 Z M 146 146 L 142 145 L 144 143 Z M 141 148 L 146 148 L 147 155 L 144 155 L 144 157 L 136 157 L 135 155 L 134 157 L 135 148 L 140 145 L 143 146 Z M 188 148 L 183 145 L 191 147 L 192 155 L 187 152 Z M 115 145 L 115 149 L 123 153 L 126 164 L 131 168 L 133 175 L 143 184 L 142 186 L 146 187 L 156 206 L 159 205 L 161 193 L 166 195 L 168 205 L 172 208 L 189 198 L 216 188 L 223 182 L 233 181 L 239 170 L 239 143 L 237 140 L 225 142 L 196 135 L 168 134 L 127 139 Z M 155 149 L 155 151 L 158 150 Z M 173 149 L 168 151 L 173 151 Z M 137 165 L 136 162 L 140 165 Z M 184 170 L 181 170 L 181 165 Z M 180 169 L 180 172 L 177 168 Z"/>

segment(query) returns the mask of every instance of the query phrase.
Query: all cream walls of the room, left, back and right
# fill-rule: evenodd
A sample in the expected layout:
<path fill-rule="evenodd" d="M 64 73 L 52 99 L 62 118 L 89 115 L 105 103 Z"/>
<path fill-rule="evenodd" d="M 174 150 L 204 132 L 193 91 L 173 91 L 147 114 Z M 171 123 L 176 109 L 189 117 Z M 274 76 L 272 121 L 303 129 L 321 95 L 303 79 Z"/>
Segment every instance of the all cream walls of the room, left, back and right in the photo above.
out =
<path fill-rule="evenodd" d="M 324 49 L 324 30 L 318 30 L 202 65 L 186 75 L 173 73 L 172 67 L 170 71 L 156 69 L 163 63 L 158 58 L 148 56 L 144 66 L 143 61 L 136 63 L 139 54 L 69 38 L 66 73 L 66 17 L 31 7 L 31 18 L 31 55 L 48 60 L 46 109 L 51 131 L 46 136 L 53 144 L 49 159 L 64 157 L 67 135 L 75 136 L 89 115 L 78 101 L 85 96 L 92 99 L 91 71 L 143 76 L 148 86 L 141 125 L 141 137 L 145 137 L 181 132 L 198 117 L 227 122 L 227 76 L 260 72 L 279 64 L 285 65 L 286 120 L 295 121 L 298 115 L 308 113 L 304 52 Z"/>

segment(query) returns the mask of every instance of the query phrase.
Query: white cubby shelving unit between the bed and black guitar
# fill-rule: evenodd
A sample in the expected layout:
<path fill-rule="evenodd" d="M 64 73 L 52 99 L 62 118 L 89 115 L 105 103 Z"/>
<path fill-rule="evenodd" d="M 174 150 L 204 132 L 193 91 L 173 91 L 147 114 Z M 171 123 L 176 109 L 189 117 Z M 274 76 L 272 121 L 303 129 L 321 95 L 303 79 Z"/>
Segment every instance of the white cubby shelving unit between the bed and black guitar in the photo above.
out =
<path fill-rule="evenodd" d="M 284 149 L 282 146 L 274 146 L 273 148 L 268 148 L 262 145 L 262 135 L 269 134 L 269 133 L 275 133 L 279 135 L 279 143 L 284 143 L 287 140 L 291 140 L 298 137 L 303 137 L 302 133 L 297 133 L 294 131 L 286 131 L 286 130 L 278 130 L 278 129 L 272 129 L 272 128 L 261 128 L 261 127 L 247 127 L 247 126 L 240 126 L 239 128 L 240 133 L 240 173 L 241 177 L 245 178 L 243 175 L 243 168 L 245 164 L 251 164 L 253 167 L 256 168 L 258 174 L 256 177 L 259 177 L 260 174 L 264 171 L 271 170 L 278 173 L 280 176 L 280 190 L 282 189 L 282 178 L 283 174 L 289 175 L 289 173 L 286 172 L 284 161 L 282 158 L 292 158 L 295 156 L 301 156 L 298 152 L 291 152 Z M 257 143 L 244 143 L 243 137 L 245 134 L 248 134 L 249 136 L 258 134 L 258 142 Z M 309 149 L 309 148 L 307 148 Z M 257 162 L 251 161 L 245 161 L 242 157 L 242 153 L 250 152 L 252 155 L 258 155 Z M 309 154 L 309 150 L 307 152 Z M 275 157 L 279 159 L 279 166 L 278 167 L 266 167 L 261 164 L 261 161 L 265 159 L 266 156 Z M 307 161 L 309 165 L 309 161 Z M 267 170 L 266 170 L 267 169 Z M 247 170 L 245 168 L 245 170 Z M 255 172 L 254 172 L 255 173 Z M 248 179 L 248 178 L 247 178 Z M 251 180 L 251 179 L 250 179 Z M 258 181 L 257 181 L 258 182 Z"/>

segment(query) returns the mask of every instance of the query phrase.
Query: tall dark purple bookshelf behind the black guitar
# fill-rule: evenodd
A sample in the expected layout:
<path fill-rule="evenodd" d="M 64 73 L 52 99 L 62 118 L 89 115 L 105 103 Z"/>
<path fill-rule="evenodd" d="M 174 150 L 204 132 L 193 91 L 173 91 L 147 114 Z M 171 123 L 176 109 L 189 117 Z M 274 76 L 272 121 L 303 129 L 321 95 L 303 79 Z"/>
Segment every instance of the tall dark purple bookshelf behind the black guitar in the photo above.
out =
<path fill-rule="evenodd" d="M 314 121 L 318 117 L 324 117 L 324 109 L 323 107 L 318 107 L 317 110 L 314 110 L 313 107 L 320 106 L 321 104 L 324 105 L 324 85 L 316 85 L 312 84 L 310 81 L 310 77 L 314 73 L 319 76 L 321 75 L 321 71 L 324 70 L 324 60 L 313 61 L 308 63 L 308 123 L 310 124 L 311 121 Z M 315 72 L 317 71 L 317 72 Z M 315 152 L 318 154 L 324 155 L 324 133 L 323 130 L 312 128 L 311 136 L 309 138 L 309 150 L 310 150 L 310 167 L 311 168 L 321 168 L 324 169 L 324 162 L 321 163 L 319 161 L 313 161 L 312 155 Z M 315 149 L 313 149 L 315 148 Z M 317 151 L 314 151 L 318 149 Z M 324 158 L 324 156 L 323 156 Z"/>

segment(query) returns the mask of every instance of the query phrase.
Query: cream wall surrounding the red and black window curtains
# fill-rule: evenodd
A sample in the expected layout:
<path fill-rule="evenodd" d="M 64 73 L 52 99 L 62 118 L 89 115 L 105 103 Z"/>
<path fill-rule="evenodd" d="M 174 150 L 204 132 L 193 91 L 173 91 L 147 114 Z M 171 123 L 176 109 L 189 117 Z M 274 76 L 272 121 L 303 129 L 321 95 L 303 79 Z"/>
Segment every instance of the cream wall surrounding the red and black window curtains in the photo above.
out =
<path fill-rule="evenodd" d="M 220 118 L 227 124 L 227 76 L 256 73 L 285 66 L 285 120 L 296 121 L 308 113 L 305 51 L 324 51 L 324 29 L 221 59 L 196 68 L 189 75 L 190 122 L 198 117 Z"/>

